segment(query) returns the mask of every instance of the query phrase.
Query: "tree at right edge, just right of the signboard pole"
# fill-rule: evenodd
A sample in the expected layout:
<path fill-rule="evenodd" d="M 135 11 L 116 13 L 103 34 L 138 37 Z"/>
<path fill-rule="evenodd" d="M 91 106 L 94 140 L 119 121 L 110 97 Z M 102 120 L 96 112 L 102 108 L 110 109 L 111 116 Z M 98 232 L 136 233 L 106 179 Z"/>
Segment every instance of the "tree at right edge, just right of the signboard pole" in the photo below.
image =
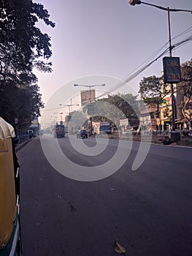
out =
<path fill-rule="evenodd" d="M 177 89 L 183 96 L 180 108 L 183 113 L 183 120 L 191 128 L 192 121 L 192 59 L 181 65 L 181 83 L 178 83 Z"/>

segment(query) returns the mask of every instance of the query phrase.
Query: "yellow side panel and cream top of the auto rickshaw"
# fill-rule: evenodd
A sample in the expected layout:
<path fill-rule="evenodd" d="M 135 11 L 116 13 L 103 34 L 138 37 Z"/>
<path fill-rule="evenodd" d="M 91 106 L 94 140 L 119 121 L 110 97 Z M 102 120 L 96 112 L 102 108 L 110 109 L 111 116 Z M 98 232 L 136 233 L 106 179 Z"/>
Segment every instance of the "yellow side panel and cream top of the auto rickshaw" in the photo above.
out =
<path fill-rule="evenodd" d="M 12 127 L 0 118 L 0 249 L 12 235 L 16 214 Z"/>

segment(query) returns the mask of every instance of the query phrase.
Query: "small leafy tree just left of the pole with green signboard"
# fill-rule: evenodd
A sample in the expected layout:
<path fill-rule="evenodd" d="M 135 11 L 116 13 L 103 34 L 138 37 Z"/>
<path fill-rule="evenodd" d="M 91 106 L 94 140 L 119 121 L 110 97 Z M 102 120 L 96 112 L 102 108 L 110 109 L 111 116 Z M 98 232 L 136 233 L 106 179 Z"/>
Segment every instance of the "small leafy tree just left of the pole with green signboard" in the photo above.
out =
<path fill-rule="evenodd" d="M 170 93 L 169 87 L 162 83 L 162 78 L 157 78 L 155 75 L 143 78 L 139 83 L 139 94 L 141 95 L 145 104 L 156 105 L 159 116 L 159 105 L 163 102 L 167 94 Z"/>

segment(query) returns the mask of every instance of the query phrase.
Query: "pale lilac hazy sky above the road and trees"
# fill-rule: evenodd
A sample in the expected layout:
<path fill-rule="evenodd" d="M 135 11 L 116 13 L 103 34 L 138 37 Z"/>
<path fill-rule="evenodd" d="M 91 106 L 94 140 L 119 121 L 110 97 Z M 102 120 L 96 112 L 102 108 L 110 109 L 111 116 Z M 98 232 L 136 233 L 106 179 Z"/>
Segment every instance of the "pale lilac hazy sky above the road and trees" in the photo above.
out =
<path fill-rule="evenodd" d="M 135 91 L 137 94 L 139 82 L 143 77 L 161 76 L 162 57 L 130 83 L 124 83 L 115 89 L 115 86 L 128 78 L 131 72 L 143 67 L 145 61 L 145 64 L 149 63 L 169 47 L 166 45 L 169 40 L 166 11 L 145 4 L 133 7 L 128 4 L 128 0 L 38 2 L 48 10 L 50 20 L 56 25 L 53 29 L 39 23 L 40 29 L 50 35 L 53 50 L 50 59 L 53 62 L 53 72 L 35 72 L 39 79 L 42 99 L 47 104 L 46 108 L 58 108 L 59 104 L 79 103 L 78 95 L 85 87 L 74 87 L 74 83 L 104 83 L 102 91 Z M 149 0 L 147 3 L 192 11 L 192 0 Z M 171 12 L 170 21 L 172 45 L 192 34 L 191 12 Z M 187 29 L 188 33 L 177 37 Z M 159 49 L 159 53 L 149 59 Z M 165 56 L 169 56 L 169 52 Z M 192 41 L 172 50 L 172 56 L 179 56 L 180 63 L 190 60 Z M 95 89 L 96 95 L 99 96 L 102 92 L 101 87 Z"/>

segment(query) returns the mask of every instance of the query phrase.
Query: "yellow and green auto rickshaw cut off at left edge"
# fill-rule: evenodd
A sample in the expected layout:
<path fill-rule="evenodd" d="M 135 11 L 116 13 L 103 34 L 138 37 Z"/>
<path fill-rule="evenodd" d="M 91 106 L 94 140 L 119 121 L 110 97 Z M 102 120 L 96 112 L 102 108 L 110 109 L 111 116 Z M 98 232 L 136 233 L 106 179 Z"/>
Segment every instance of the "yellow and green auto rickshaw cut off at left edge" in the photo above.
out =
<path fill-rule="evenodd" d="M 22 255 L 19 165 L 13 127 L 0 117 L 0 256 Z"/>

